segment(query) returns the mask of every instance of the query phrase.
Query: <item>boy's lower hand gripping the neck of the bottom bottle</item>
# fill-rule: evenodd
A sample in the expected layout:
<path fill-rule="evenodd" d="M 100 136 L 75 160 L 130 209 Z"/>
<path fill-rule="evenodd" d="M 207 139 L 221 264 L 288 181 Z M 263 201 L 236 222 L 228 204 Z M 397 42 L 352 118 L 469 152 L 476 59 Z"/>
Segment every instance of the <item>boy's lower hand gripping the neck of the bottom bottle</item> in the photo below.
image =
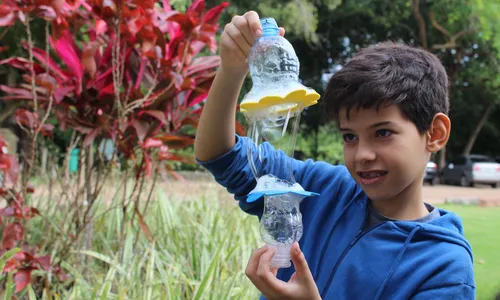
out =
<path fill-rule="evenodd" d="M 250 257 L 245 274 L 269 300 L 274 299 L 321 299 L 307 261 L 299 244 L 294 243 L 290 250 L 295 273 L 288 282 L 276 278 L 277 269 L 270 263 L 276 249 L 264 246 L 255 250 Z"/>

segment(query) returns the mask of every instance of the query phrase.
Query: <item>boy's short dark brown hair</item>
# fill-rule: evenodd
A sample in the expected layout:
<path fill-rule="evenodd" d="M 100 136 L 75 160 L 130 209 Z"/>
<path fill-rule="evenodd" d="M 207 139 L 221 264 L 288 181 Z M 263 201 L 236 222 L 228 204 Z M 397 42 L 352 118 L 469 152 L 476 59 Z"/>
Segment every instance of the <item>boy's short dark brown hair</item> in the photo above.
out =
<path fill-rule="evenodd" d="M 330 79 L 323 100 L 338 122 L 346 108 L 398 105 L 425 133 L 437 113 L 448 114 L 448 76 L 439 59 L 423 49 L 384 42 L 362 49 Z"/>

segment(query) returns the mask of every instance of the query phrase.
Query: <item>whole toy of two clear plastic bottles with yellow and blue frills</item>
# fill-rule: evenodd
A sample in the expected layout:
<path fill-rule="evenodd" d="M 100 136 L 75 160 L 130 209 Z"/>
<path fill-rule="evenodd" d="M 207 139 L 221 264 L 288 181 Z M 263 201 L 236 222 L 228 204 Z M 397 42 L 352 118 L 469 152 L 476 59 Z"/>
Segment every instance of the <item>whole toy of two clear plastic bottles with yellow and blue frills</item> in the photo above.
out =
<path fill-rule="evenodd" d="M 253 85 L 241 103 L 248 136 L 254 142 L 247 144 L 247 157 L 257 180 L 247 201 L 264 196 L 260 233 L 266 244 L 277 249 L 271 266 L 288 268 L 290 248 L 303 233 L 300 201 L 317 194 L 295 182 L 292 159 L 280 166 L 279 178 L 278 174 L 262 174 L 265 157 L 261 150 L 264 143 L 270 143 L 275 150 L 293 156 L 300 113 L 305 105 L 315 104 L 319 94 L 299 82 L 299 60 L 290 42 L 279 35 L 276 21 L 264 18 L 260 22 L 262 37 L 248 56 Z"/>

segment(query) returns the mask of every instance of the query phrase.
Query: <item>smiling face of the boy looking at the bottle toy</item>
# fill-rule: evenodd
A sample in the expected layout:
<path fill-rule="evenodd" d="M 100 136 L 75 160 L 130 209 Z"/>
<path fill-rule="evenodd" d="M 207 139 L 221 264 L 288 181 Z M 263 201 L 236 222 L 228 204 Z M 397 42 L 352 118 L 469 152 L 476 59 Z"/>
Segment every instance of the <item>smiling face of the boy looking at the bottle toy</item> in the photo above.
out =
<path fill-rule="evenodd" d="M 339 123 L 346 167 L 371 200 L 395 200 L 422 186 L 426 135 L 396 105 L 353 108 L 349 119 L 341 109 Z"/>

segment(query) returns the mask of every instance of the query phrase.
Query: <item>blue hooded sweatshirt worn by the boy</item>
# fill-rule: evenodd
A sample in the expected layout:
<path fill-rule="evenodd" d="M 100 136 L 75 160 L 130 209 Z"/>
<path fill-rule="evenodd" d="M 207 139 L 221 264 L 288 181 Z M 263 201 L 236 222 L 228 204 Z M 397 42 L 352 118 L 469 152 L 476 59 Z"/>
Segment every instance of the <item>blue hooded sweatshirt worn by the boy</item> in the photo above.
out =
<path fill-rule="evenodd" d="M 199 163 L 234 194 L 241 209 L 260 218 L 263 200 L 247 203 L 256 181 L 246 145 L 236 136 L 228 153 Z M 344 166 L 294 160 L 269 143 L 261 149 L 262 174 L 286 178 L 292 160 L 295 179 L 319 196 L 300 204 L 304 233 L 299 244 L 323 299 L 474 299 L 472 250 L 459 217 L 439 210 L 429 222 L 386 221 L 363 230 L 368 198 Z M 277 277 L 288 281 L 293 266 Z M 264 297 L 261 297 L 262 299 Z"/>

